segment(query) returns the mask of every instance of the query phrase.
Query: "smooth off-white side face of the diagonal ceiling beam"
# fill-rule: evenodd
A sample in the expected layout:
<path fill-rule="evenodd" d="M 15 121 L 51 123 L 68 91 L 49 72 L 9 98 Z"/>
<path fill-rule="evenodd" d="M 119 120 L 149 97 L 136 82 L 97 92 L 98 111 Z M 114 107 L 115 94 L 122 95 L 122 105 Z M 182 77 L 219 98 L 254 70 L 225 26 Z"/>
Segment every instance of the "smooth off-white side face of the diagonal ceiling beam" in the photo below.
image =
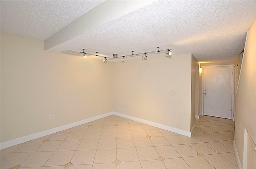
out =
<path fill-rule="evenodd" d="M 98 28 L 154 1 L 156 0 L 106 0 L 46 39 L 44 41 L 44 50 L 82 35 L 89 30 Z"/>

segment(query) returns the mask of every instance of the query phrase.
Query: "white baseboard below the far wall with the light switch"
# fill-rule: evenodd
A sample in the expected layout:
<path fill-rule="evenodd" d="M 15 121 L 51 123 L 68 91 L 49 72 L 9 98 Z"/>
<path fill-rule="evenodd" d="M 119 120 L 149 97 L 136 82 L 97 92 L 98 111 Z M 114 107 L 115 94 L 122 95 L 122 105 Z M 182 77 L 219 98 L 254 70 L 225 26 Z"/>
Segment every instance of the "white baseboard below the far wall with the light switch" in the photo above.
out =
<path fill-rule="evenodd" d="M 134 120 L 136 122 L 148 124 L 150 126 L 154 126 L 154 127 L 157 127 L 157 128 L 163 129 L 163 130 L 168 130 L 170 132 L 174 132 L 174 133 L 177 133 L 177 134 L 181 134 L 181 135 L 184 135 L 184 136 L 191 137 L 191 132 L 188 132 L 188 131 L 185 131 L 185 130 L 180 130 L 178 128 L 173 128 L 173 127 L 170 127 L 170 126 L 166 126 L 166 125 L 159 124 L 159 123 L 156 123 L 156 122 L 151 122 L 151 121 L 148 121 L 148 120 L 144 120 L 144 119 L 141 119 L 141 118 L 129 116 L 129 115 L 118 113 L 118 112 L 113 112 L 113 114 L 116 115 L 116 116 L 120 116 L 120 117 L 123 117 L 123 118 Z"/>

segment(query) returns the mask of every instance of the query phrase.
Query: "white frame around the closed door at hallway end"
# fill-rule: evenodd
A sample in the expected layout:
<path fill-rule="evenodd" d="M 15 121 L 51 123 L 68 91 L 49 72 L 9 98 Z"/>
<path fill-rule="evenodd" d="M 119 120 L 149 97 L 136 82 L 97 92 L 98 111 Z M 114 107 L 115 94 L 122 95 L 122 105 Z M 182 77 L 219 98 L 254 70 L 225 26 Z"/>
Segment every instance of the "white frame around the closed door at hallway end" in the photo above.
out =
<path fill-rule="evenodd" d="M 204 67 L 232 67 L 232 96 L 231 96 L 231 120 L 234 121 L 234 64 L 230 65 L 205 65 L 202 66 L 202 90 L 201 90 L 201 115 L 204 115 Z"/>

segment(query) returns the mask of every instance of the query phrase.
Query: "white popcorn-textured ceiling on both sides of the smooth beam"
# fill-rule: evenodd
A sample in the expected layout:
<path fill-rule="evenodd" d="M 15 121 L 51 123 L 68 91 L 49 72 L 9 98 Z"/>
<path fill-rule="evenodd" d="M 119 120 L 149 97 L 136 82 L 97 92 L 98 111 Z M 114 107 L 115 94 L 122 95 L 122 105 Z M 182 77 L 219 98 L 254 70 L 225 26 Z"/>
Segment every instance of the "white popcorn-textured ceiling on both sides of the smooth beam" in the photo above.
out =
<path fill-rule="evenodd" d="M 92 8 L 97 9 L 98 4 L 106 3 L 1 0 L 1 31 L 45 40 Z M 84 30 L 47 51 L 85 48 L 88 53 L 98 51 L 112 57 L 113 53 L 122 56 L 131 51 L 155 51 L 160 46 L 172 49 L 174 55 L 192 53 L 201 62 L 233 62 L 243 50 L 246 32 L 255 19 L 255 0 L 156 1 Z"/>

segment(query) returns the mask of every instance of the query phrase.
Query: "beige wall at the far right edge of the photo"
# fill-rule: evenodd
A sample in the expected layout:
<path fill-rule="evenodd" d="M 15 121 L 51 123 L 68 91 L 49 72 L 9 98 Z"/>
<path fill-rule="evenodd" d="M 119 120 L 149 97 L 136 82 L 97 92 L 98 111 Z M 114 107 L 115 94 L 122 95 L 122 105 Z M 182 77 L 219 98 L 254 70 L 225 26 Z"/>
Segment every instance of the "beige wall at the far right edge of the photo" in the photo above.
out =
<path fill-rule="evenodd" d="M 244 128 L 256 143 L 256 20 L 249 29 L 236 93 L 235 143 L 243 166 Z"/>

